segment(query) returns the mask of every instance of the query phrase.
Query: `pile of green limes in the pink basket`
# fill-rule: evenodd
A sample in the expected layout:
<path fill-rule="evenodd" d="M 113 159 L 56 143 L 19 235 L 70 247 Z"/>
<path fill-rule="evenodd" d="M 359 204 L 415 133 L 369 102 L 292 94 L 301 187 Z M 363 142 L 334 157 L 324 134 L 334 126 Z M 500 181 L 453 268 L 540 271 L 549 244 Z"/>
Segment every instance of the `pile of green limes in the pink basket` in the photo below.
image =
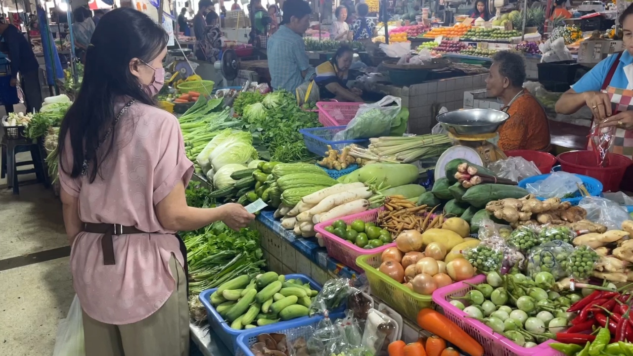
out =
<path fill-rule="evenodd" d="M 393 242 L 391 232 L 381 229 L 373 222 L 364 222 L 360 219 L 349 225 L 344 220 L 336 220 L 332 225 L 326 226 L 325 231 L 367 250 Z"/>

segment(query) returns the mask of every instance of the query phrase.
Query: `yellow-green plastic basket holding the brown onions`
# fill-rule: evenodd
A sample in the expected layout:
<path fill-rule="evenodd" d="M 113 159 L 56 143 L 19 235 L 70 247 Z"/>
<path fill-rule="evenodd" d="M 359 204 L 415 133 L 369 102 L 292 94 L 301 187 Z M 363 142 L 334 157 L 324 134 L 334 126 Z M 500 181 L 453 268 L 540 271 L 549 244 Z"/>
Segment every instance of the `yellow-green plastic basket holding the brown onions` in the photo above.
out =
<path fill-rule="evenodd" d="M 365 270 L 369 286 L 372 288 L 372 295 L 377 296 L 411 321 L 417 319 L 420 309 L 436 307 L 432 296 L 414 293 L 403 284 L 380 272 L 377 269 L 380 267 L 380 253 L 359 256 L 356 258 L 356 265 Z"/>

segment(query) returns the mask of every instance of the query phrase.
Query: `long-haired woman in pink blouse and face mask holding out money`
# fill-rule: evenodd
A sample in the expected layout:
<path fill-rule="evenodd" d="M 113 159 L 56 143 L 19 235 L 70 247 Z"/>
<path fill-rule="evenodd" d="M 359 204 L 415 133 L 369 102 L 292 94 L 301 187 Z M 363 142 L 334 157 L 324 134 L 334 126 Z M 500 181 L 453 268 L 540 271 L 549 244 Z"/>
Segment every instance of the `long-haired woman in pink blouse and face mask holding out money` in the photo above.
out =
<path fill-rule="evenodd" d="M 254 215 L 237 204 L 187 207 L 193 163 L 178 120 L 153 100 L 168 37 L 131 8 L 100 22 L 59 141 L 86 355 L 188 355 L 187 259 L 175 232 L 218 220 L 239 229 Z"/>

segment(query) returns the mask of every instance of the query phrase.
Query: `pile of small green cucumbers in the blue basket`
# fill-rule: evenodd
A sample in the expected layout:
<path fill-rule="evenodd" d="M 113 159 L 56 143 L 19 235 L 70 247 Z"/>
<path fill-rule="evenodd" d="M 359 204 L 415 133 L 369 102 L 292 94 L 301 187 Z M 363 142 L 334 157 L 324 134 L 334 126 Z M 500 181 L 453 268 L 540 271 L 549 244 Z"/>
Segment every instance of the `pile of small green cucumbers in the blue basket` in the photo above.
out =
<path fill-rule="evenodd" d="M 252 329 L 308 315 L 318 291 L 275 272 L 235 277 L 211 294 L 211 305 L 232 329 Z"/>

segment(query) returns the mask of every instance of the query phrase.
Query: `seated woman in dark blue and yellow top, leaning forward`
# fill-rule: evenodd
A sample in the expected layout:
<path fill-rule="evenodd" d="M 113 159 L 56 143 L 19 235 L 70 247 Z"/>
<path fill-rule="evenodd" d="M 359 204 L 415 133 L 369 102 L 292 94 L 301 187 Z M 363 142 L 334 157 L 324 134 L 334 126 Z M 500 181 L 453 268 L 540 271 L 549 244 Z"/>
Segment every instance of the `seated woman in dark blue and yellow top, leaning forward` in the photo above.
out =
<path fill-rule="evenodd" d="M 348 70 L 352 65 L 354 51 L 349 46 L 341 46 L 332 59 L 316 67 L 315 83 L 319 88 L 321 99 L 335 99 L 338 101 L 356 101 L 363 92 L 360 89 L 348 89 Z"/>

